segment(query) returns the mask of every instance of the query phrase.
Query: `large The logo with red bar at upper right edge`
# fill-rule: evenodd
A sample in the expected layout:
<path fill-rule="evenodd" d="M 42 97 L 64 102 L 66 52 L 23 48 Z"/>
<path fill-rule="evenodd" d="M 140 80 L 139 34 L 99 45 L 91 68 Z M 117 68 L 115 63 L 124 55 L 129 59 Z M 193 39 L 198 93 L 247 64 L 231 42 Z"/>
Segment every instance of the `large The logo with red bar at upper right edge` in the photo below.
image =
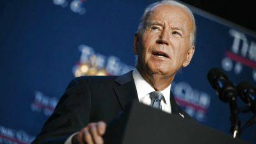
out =
<path fill-rule="evenodd" d="M 236 75 L 243 72 L 243 67 L 252 68 L 252 77 L 256 81 L 256 42 L 249 42 L 244 33 L 230 29 L 230 36 L 234 38 L 230 51 L 221 61 L 222 68 L 226 71 L 234 70 Z"/>

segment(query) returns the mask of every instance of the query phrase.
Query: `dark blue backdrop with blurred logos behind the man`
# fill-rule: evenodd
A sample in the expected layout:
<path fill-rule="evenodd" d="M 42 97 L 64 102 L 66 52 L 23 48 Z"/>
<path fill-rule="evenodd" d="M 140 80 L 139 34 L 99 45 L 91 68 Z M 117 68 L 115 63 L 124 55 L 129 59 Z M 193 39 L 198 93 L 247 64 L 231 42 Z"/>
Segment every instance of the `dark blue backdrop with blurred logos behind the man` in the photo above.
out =
<path fill-rule="evenodd" d="M 4 0 L 0 4 L 0 143 L 30 143 L 75 76 L 120 75 L 134 67 L 133 36 L 152 0 Z M 191 65 L 172 84 L 179 105 L 229 134 L 228 104 L 207 72 L 256 82 L 256 35 L 192 8 L 198 28 Z M 243 103 L 239 102 L 240 106 Z M 252 113 L 239 115 L 243 122 Z M 256 143 L 255 126 L 242 139 Z"/>

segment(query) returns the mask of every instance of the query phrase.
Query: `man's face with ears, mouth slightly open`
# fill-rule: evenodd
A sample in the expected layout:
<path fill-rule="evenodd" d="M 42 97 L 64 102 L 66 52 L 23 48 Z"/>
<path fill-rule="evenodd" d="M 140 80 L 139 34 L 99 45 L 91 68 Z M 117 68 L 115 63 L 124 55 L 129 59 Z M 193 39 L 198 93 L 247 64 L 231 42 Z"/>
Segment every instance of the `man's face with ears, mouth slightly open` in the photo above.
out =
<path fill-rule="evenodd" d="M 195 50 L 190 33 L 193 23 L 181 8 L 161 4 L 152 10 L 145 29 L 134 37 L 134 53 L 143 73 L 173 76 L 186 67 Z"/>

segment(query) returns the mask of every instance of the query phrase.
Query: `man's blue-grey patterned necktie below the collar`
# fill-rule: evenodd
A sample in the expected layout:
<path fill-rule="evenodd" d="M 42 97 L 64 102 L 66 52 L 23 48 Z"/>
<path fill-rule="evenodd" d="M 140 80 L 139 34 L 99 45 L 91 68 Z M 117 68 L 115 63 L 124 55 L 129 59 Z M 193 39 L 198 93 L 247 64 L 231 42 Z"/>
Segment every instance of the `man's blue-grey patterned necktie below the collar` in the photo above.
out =
<path fill-rule="evenodd" d="M 151 105 L 153 108 L 156 109 L 161 109 L 162 110 L 162 105 L 161 105 L 161 100 L 164 99 L 164 96 L 161 92 L 151 92 L 149 93 L 150 99 L 151 99 Z"/>

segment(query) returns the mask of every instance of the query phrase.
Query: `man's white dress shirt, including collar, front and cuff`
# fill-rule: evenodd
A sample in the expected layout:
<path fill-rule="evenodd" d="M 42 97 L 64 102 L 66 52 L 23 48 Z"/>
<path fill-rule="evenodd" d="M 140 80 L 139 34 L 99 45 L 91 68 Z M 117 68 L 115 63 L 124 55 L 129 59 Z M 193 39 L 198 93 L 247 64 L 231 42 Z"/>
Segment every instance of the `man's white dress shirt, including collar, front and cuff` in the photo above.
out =
<path fill-rule="evenodd" d="M 138 93 L 138 99 L 141 103 L 150 106 L 151 99 L 149 97 L 149 93 L 154 92 L 155 89 L 141 76 L 140 72 L 137 69 L 133 70 L 132 77 L 134 79 L 134 83 L 136 86 L 136 90 Z M 162 110 L 167 113 L 172 113 L 171 110 L 171 103 L 170 103 L 170 92 L 171 92 L 171 84 L 161 91 L 164 96 L 164 99 L 161 100 Z M 64 144 L 72 144 L 72 138 L 78 132 L 72 134 L 68 139 L 65 141 Z"/>

